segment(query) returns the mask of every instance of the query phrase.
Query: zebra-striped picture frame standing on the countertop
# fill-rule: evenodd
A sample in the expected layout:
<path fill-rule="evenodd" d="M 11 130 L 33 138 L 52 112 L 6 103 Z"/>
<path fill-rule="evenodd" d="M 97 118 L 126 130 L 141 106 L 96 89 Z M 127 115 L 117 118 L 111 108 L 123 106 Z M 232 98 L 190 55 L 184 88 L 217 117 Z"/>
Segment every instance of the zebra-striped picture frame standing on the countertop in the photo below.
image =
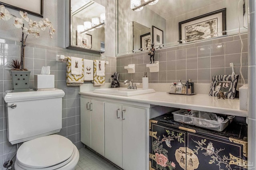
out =
<path fill-rule="evenodd" d="M 234 99 L 238 77 L 238 74 L 212 76 L 209 96 L 218 96 L 218 92 L 221 90 L 228 99 Z"/>

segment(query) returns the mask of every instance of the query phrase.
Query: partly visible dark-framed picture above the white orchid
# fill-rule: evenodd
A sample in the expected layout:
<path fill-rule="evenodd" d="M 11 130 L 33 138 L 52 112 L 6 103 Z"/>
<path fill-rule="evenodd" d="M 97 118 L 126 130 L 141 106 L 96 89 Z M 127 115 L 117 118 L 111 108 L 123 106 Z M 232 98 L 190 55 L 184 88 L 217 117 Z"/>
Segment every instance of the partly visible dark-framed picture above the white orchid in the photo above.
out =
<path fill-rule="evenodd" d="M 0 5 L 43 18 L 44 0 L 0 0 Z"/>

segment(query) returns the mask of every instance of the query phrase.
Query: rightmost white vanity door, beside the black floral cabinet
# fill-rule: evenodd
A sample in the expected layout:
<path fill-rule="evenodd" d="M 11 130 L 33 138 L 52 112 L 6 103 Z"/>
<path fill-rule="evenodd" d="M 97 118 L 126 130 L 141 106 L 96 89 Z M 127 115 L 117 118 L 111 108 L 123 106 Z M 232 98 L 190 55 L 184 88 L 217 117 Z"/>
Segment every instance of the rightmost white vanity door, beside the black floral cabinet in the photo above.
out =
<path fill-rule="evenodd" d="M 122 168 L 146 169 L 146 109 L 122 106 Z"/>

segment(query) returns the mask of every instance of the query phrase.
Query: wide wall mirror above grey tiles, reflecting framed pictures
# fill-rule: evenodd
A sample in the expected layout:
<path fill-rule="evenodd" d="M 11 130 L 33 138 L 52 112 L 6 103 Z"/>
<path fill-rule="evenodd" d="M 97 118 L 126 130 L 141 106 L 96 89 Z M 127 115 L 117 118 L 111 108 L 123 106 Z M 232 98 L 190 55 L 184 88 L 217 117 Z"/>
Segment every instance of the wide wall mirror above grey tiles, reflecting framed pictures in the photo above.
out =
<path fill-rule="evenodd" d="M 159 0 L 154 5 L 147 4 L 140 11 L 134 11 L 130 8 L 130 0 L 117 0 L 117 2 L 117 56 L 143 52 L 140 48 L 137 49 L 136 46 L 134 46 L 133 50 L 131 48 L 132 43 L 134 43 L 134 39 L 130 38 L 131 22 L 136 22 L 148 28 L 158 28 L 156 32 L 159 32 L 157 35 L 158 37 L 160 36 L 160 39 L 162 38 L 163 43 L 157 46 L 155 44 L 156 49 L 176 46 L 180 45 L 180 43 L 192 43 L 195 41 L 204 41 L 208 38 L 234 35 L 238 33 L 239 28 L 240 33 L 247 32 L 248 16 L 246 14 L 248 14 L 248 12 L 245 0 Z M 140 4 L 143 3 L 145 3 L 145 1 L 141 0 Z M 222 15 L 214 16 L 210 14 L 222 9 L 226 10 L 224 12 L 224 18 L 222 18 Z M 196 18 L 196 20 L 189 21 L 192 18 Z M 208 20 L 208 27 L 216 27 L 214 31 L 204 32 L 204 29 L 196 28 L 198 23 L 201 27 L 205 27 Z M 220 20 L 225 20 L 225 22 L 221 23 Z M 184 21 L 187 22 L 184 23 Z M 183 27 L 179 28 L 179 23 L 182 23 L 183 25 L 181 26 Z M 190 34 L 181 35 L 186 32 L 185 30 Z M 154 39 L 156 39 L 157 35 L 153 35 L 152 32 L 154 31 L 151 29 L 151 38 L 154 37 Z M 127 36 L 128 33 L 129 36 Z M 202 36 L 203 34 L 204 36 Z M 186 37 L 190 38 L 190 40 L 188 41 Z"/>

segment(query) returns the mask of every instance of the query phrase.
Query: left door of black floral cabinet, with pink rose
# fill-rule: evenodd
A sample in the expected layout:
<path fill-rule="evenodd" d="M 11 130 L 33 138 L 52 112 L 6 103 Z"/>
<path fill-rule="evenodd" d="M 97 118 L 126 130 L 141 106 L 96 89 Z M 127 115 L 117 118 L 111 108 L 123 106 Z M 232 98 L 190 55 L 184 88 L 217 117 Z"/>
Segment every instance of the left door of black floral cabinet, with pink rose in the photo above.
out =
<path fill-rule="evenodd" d="M 152 122 L 152 121 L 151 121 Z M 180 153 L 180 161 L 186 167 L 186 132 L 150 123 L 150 170 L 182 170 L 176 166 L 175 152 Z M 185 148 L 181 150 L 180 148 Z"/>

